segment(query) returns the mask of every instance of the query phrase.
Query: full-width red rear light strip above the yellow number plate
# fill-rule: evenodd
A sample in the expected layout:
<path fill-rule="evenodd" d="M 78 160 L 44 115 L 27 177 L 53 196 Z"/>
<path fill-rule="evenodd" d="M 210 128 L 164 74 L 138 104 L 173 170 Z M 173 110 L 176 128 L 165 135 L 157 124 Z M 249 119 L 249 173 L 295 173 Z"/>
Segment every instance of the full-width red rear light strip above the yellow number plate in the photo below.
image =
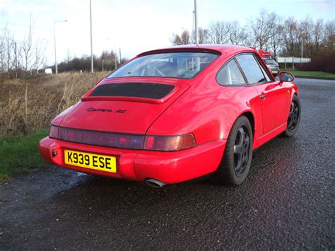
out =
<path fill-rule="evenodd" d="M 50 127 L 49 137 L 80 144 L 150 151 L 180 151 L 196 146 L 193 134 L 176 136 L 119 134 L 54 125 Z"/>

